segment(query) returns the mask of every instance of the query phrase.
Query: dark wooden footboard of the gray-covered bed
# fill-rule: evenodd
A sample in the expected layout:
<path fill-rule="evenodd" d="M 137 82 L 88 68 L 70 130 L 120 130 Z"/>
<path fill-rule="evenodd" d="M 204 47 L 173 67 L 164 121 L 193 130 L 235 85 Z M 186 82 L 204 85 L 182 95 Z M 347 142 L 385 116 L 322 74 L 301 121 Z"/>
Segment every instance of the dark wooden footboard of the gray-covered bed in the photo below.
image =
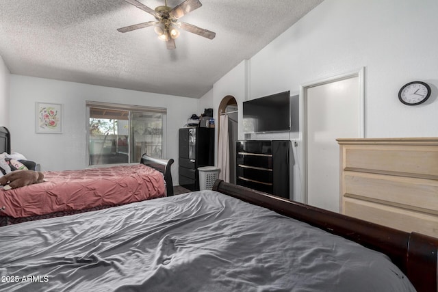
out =
<path fill-rule="evenodd" d="M 329 233 L 387 254 L 411 280 L 417 291 L 438 289 L 438 239 L 435 237 L 415 232 L 407 233 L 221 180 L 214 183 L 213 190 L 307 222 Z"/>

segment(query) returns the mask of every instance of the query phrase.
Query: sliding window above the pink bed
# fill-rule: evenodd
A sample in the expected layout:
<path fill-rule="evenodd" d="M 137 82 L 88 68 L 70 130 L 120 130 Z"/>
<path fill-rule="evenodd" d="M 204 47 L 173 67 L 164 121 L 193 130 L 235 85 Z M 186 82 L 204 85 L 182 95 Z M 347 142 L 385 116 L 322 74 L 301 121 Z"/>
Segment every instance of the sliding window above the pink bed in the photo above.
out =
<path fill-rule="evenodd" d="M 90 165 L 162 158 L 166 109 L 87 101 Z"/>

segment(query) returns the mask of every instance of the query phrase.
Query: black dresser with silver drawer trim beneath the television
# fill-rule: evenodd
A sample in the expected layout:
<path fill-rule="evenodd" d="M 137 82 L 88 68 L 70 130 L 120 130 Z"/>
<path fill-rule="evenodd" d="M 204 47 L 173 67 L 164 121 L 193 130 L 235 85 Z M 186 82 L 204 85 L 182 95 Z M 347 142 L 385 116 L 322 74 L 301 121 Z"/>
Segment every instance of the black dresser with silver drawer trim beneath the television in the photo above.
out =
<path fill-rule="evenodd" d="M 236 142 L 236 183 L 289 199 L 289 140 Z"/>

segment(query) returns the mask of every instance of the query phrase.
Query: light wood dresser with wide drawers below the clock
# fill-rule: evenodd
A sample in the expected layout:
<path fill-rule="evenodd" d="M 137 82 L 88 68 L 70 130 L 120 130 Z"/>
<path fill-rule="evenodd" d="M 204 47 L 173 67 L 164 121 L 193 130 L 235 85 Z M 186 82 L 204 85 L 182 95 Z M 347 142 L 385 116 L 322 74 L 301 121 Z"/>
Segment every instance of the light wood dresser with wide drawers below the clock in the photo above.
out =
<path fill-rule="evenodd" d="M 337 142 L 343 214 L 438 237 L 438 138 Z"/>

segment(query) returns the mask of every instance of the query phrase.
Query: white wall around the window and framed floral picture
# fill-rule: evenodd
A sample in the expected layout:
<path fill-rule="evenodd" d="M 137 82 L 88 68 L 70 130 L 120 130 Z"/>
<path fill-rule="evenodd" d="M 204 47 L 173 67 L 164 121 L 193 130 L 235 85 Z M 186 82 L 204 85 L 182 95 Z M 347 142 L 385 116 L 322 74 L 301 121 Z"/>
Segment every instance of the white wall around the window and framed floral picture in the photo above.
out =
<path fill-rule="evenodd" d="M 35 103 L 62 103 L 63 133 L 35 133 Z M 166 158 L 174 158 L 174 184 L 178 184 L 178 129 L 196 113 L 198 100 L 96 85 L 21 75 L 10 78 L 10 131 L 12 150 L 41 164 L 42 170 L 72 170 L 88 166 L 86 101 L 125 103 L 167 108 Z"/>

